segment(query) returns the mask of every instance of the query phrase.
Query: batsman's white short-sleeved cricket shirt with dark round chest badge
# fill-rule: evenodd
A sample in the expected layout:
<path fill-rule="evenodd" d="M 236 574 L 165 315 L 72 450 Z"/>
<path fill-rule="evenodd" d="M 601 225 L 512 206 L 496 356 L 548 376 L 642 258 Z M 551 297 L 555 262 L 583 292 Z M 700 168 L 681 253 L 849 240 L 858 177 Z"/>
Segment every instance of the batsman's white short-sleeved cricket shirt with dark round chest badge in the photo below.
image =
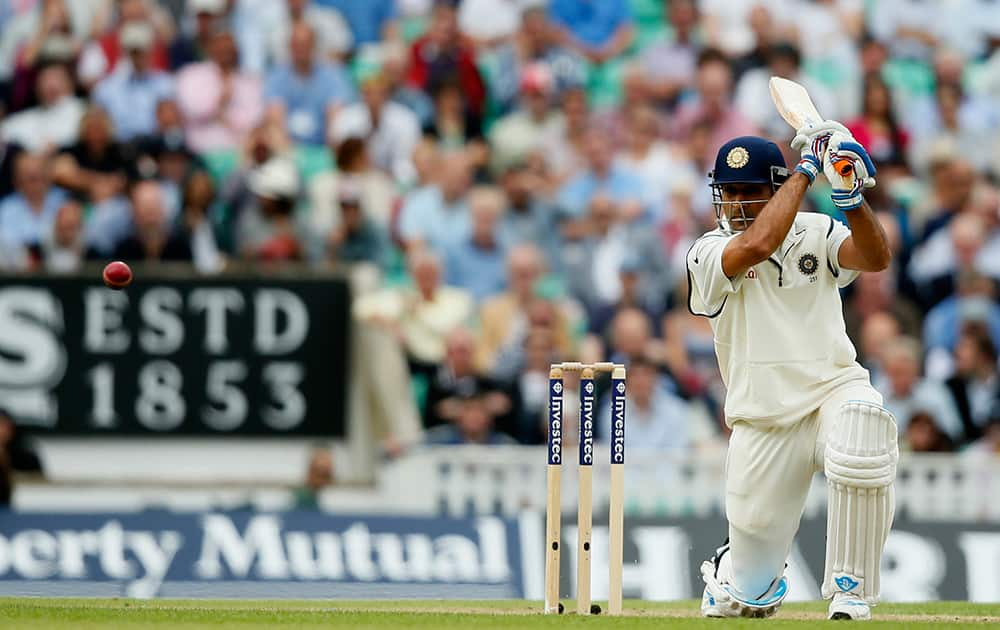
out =
<path fill-rule="evenodd" d="M 858 275 L 837 258 L 850 234 L 824 214 L 800 212 L 776 252 L 732 279 L 722 250 L 735 234 L 712 230 L 691 246 L 688 308 L 711 319 L 730 426 L 787 426 L 843 383 L 868 381 L 839 292 Z"/>

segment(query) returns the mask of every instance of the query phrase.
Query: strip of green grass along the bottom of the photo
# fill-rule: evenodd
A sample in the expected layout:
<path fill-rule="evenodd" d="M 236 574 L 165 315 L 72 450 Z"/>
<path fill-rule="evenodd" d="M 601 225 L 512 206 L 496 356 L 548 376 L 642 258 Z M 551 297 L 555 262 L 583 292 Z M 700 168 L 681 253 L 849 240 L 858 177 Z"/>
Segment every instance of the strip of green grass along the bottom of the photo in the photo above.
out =
<path fill-rule="evenodd" d="M 567 610 L 573 603 L 564 602 Z M 265 601 L 0 598 L 0 628 L 812 628 L 825 602 L 786 604 L 769 620 L 703 619 L 698 602 L 627 601 L 626 616 L 542 615 L 526 601 Z M 884 604 L 866 628 L 981 628 L 1000 625 L 1000 604 Z"/>

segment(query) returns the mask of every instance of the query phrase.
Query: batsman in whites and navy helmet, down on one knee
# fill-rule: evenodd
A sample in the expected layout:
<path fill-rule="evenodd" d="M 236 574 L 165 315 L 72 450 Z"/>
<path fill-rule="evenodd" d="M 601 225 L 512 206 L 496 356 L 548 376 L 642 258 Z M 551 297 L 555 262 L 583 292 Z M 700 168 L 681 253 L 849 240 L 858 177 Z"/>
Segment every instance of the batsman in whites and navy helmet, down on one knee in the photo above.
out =
<path fill-rule="evenodd" d="M 729 538 L 701 567 L 708 617 L 768 617 L 788 593 L 785 561 L 813 474 L 829 488 L 823 597 L 831 619 L 870 619 L 892 525 L 896 423 L 856 361 L 839 289 L 891 253 L 863 191 L 867 151 L 840 123 L 797 131 L 789 174 L 778 147 L 723 145 L 711 174 L 718 227 L 687 255 L 688 308 L 711 320 L 732 429 Z M 850 160 L 838 175 L 834 163 Z M 850 229 L 799 212 L 820 172 Z"/>

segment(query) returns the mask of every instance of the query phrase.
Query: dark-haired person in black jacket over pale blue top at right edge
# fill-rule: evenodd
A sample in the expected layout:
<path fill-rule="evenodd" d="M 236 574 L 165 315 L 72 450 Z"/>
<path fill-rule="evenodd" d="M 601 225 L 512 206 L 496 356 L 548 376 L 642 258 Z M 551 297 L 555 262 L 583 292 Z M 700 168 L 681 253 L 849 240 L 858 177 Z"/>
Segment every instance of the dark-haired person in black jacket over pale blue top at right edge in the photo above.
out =
<path fill-rule="evenodd" d="M 945 381 L 962 418 L 964 441 L 983 436 L 986 425 L 1000 405 L 997 347 L 989 329 L 981 322 L 967 322 L 955 346 L 955 374 Z"/>

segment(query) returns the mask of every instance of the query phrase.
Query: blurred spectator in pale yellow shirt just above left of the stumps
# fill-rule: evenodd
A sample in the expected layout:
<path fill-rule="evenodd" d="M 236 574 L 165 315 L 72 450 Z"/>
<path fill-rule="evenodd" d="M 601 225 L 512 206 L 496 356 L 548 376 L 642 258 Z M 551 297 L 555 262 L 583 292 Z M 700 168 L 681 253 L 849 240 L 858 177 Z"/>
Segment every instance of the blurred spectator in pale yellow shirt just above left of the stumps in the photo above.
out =
<path fill-rule="evenodd" d="M 507 254 L 508 289 L 485 300 L 479 309 L 479 345 L 476 349 L 476 365 L 484 372 L 496 374 L 497 360 L 501 352 L 523 348 L 525 336 L 530 329 L 532 311 L 536 317 L 550 327 L 555 335 L 555 343 L 560 355 L 570 351 L 569 322 L 557 308 L 539 305 L 538 284 L 545 272 L 545 258 L 532 244 L 525 243 L 512 247 Z M 515 368 L 517 367 L 516 364 Z M 513 378 L 515 374 L 508 376 Z"/>

